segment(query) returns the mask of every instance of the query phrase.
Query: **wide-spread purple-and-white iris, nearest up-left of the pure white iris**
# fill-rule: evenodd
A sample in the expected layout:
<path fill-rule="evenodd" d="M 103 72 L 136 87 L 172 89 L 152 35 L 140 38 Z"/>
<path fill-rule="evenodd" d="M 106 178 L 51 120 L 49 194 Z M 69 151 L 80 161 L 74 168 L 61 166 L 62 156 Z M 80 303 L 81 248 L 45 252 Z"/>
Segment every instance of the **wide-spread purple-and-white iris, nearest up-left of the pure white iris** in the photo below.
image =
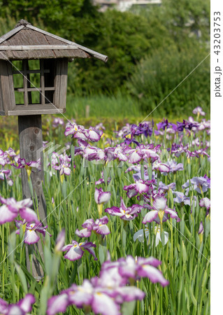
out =
<path fill-rule="evenodd" d="M 139 204 L 133 204 L 131 207 L 127 208 L 122 197 L 120 197 L 120 199 L 120 208 L 107 208 L 105 209 L 105 212 L 107 212 L 111 216 L 120 216 L 120 218 L 122 218 L 123 220 L 130 221 L 136 218 L 136 216 L 138 216 L 138 213 L 141 212 L 141 210 L 143 209 L 143 206 L 140 206 Z"/>

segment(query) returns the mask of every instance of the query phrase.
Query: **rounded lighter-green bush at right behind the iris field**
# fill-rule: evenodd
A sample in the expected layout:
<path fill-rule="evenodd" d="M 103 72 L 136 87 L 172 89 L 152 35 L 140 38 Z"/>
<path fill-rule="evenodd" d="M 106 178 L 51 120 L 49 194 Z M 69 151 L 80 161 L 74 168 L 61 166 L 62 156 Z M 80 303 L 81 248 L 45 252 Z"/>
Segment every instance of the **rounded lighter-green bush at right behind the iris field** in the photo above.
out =
<path fill-rule="evenodd" d="M 210 57 L 207 56 L 208 52 L 199 46 L 181 51 L 174 46 L 157 50 L 138 64 L 127 87 L 140 100 L 143 111 L 152 111 L 163 100 L 156 110 L 162 115 L 178 114 L 179 110 L 192 110 L 196 106 L 205 108 L 210 104 Z"/>

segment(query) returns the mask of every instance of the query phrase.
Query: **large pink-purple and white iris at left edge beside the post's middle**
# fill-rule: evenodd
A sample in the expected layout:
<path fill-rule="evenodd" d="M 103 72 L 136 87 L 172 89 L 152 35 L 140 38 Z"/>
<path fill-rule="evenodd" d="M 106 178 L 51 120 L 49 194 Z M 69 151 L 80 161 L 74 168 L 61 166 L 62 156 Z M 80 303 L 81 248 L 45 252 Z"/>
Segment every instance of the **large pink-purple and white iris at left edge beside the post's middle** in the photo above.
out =
<path fill-rule="evenodd" d="M 27 198 L 17 202 L 13 197 L 5 199 L 0 196 L 0 202 L 3 204 L 0 207 L 0 224 L 13 221 L 18 214 L 27 222 L 39 223 L 36 212 L 29 208 L 33 204 L 31 199 Z"/>

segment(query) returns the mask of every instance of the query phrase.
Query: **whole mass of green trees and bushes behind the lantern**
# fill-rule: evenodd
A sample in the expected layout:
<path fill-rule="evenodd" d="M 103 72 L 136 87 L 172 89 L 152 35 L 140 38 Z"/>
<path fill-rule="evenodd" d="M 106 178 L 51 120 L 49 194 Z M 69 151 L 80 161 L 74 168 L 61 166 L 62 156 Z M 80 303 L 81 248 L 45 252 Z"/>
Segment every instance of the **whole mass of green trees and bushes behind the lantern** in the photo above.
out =
<path fill-rule="evenodd" d="M 1 34 L 21 18 L 108 55 L 106 64 L 94 58 L 69 64 L 69 94 L 110 97 L 121 90 L 143 111 L 154 109 L 208 55 L 210 0 L 163 0 L 161 6 L 105 13 L 91 0 L 0 0 Z M 209 76 L 208 58 L 156 112 L 208 106 Z"/>

